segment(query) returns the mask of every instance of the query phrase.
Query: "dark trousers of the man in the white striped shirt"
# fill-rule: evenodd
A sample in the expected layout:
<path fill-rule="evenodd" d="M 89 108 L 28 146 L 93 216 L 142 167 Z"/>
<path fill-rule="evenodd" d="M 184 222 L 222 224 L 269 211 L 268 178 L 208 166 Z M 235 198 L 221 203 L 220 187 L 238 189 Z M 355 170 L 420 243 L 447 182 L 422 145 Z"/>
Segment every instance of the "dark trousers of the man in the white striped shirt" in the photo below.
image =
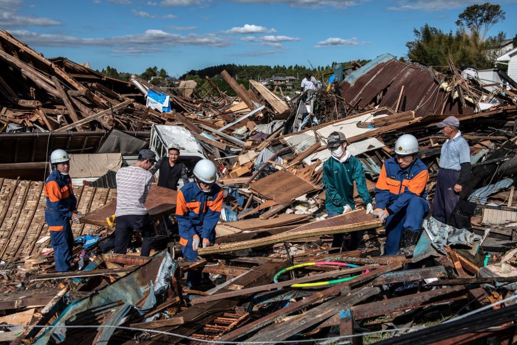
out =
<path fill-rule="evenodd" d="M 151 246 L 153 246 L 155 240 L 155 230 L 148 214 L 125 215 L 116 218 L 115 250 L 113 250 L 113 252 L 117 254 L 126 253 L 133 230 L 138 231 L 142 235 L 142 250 L 140 255 L 148 257 L 151 252 Z"/>

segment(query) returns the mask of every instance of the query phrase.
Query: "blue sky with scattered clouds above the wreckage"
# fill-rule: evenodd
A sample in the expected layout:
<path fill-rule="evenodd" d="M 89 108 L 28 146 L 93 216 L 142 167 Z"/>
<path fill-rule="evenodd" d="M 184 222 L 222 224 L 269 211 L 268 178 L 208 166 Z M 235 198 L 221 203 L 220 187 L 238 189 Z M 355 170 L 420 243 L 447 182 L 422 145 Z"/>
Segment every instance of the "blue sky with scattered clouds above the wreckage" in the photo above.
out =
<path fill-rule="evenodd" d="M 328 65 L 406 54 L 413 28 L 448 32 L 475 0 L 0 0 L 0 28 L 42 52 L 141 73 L 246 65 Z M 517 33 L 517 0 L 489 34 Z"/>

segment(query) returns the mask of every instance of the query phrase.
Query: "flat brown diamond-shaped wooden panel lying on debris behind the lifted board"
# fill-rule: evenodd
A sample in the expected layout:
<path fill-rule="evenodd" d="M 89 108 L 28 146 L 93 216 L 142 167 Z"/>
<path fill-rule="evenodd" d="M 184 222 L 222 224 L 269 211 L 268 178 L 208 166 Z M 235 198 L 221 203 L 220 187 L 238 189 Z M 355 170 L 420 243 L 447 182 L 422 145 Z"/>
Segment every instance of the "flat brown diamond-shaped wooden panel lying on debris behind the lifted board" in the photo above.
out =
<path fill-rule="evenodd" d="M 299 196 L 320 189 L 286 170 L 280 170 L 258 179 L 249 187 L 261 196 L 275 200 L 280 205 L 290 204 Z"/>

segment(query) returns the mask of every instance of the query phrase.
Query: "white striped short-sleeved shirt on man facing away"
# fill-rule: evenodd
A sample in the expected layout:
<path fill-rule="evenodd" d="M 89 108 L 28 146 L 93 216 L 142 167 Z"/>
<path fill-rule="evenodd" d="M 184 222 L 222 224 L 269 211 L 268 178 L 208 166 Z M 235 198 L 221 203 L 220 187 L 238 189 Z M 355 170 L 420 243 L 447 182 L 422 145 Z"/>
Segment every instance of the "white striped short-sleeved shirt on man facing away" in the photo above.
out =
<path fill-rule="evenodd" d="M 153 175 L 139 167 L 124 167 L 117 172 L 117 208 L 115 216 L 145 215 L 145 199 Z"/>

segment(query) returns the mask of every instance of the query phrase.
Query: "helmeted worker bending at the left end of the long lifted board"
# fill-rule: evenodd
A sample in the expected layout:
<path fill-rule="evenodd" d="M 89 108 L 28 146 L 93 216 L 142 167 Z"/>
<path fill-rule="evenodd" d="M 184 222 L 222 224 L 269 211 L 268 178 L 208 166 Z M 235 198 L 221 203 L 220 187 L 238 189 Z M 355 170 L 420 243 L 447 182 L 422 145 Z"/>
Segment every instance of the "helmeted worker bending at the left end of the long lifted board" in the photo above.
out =
<path fill-rule="evenodd" d="M 176 220 L 179 228 L 179 244 L 189 261 L 197 260 L 197 249 L 208 247 L 216 241 L 216 225 L 221 215 L 223 191 L 216 182 L 216 166 L 209 159 L 195 164 L 194 182 L 178 191 Z M 201 284 L 201 273 L 189 271 L 187 285 Z"/>

